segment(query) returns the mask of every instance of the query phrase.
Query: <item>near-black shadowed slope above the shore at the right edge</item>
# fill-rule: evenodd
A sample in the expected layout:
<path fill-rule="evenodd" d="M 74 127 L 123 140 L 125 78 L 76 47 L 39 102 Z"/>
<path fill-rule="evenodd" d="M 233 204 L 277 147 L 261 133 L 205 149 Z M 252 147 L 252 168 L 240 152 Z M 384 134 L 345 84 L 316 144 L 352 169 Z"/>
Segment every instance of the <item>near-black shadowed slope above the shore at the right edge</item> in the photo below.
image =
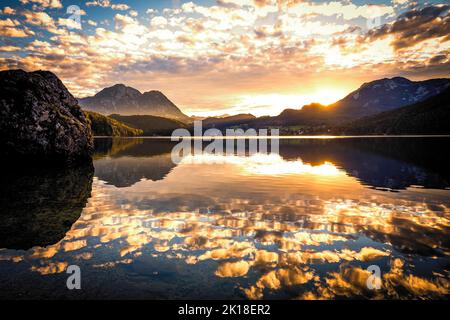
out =
<path fill-rule="evenodd" d="M 450 134 L 450 88 L 411 106 L 346 123 L 341 134 Z"/>

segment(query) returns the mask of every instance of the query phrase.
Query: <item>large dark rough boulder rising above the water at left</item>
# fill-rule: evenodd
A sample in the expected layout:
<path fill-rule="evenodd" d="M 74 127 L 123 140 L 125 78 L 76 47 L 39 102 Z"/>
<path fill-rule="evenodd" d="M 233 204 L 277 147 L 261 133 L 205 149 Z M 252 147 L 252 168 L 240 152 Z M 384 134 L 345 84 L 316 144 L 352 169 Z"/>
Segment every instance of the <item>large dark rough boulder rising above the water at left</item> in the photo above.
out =
<path fill-rule="evenodd" d="M 78 101 L 48 71 L 0 72 L 0 154 L 74 162 L 90 159 L 93 137 Z"/>

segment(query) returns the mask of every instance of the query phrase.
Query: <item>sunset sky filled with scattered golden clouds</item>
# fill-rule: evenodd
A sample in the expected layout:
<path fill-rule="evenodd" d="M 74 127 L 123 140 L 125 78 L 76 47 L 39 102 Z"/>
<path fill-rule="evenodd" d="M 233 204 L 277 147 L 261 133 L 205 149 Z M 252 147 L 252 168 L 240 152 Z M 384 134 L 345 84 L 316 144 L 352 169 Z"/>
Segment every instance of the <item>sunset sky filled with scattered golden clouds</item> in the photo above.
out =
<path fill-rule="evenodd" d="M 450 76 L 448 1 L 2 0 L 0 70 L 76 97 L 123 83 L 189 115 L 277 115 L 364 82 Z"/>

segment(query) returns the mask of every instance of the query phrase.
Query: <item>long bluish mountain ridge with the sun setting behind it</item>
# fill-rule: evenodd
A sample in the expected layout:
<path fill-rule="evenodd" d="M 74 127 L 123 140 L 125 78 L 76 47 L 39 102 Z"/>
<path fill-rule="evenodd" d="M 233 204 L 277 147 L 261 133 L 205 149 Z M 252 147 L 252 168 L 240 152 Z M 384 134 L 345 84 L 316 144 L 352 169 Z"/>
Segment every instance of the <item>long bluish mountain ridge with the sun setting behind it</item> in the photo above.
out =
<path fill-rule="evenodd" d="M 224 120 L 212 118 L 210 122 L 223 122 L 220 124 L 221 129 L 234 126 L 279 127 L 282 134 L 305 133 L 314 127 L 334 126 L 424 101 L 449 87 L 450 79 L 426 81 L 410 81 L 401 77 L 381 79 L 363 84 L 344 99 L 328 106 L 312 103 L 303 106 L 300 110 L 285 109 L 274 117 L 247 119 L 228 117 Z M 208 119 L 205 120 L 207 121 Z"/>

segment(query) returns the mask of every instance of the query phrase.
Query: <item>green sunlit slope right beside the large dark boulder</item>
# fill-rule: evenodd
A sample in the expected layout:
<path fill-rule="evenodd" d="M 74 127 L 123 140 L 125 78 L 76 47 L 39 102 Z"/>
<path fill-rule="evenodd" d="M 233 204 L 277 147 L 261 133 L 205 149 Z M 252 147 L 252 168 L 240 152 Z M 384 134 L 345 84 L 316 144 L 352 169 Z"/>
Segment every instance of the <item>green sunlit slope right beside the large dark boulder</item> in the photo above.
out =
<path fill-rule="evenodd" d="M 93 111 L 84 111 L 91 124 L 94 136 L 129 137 L 140 136 L 143 131 L 121 123 L 110 117 L 106 117 Z"/>

